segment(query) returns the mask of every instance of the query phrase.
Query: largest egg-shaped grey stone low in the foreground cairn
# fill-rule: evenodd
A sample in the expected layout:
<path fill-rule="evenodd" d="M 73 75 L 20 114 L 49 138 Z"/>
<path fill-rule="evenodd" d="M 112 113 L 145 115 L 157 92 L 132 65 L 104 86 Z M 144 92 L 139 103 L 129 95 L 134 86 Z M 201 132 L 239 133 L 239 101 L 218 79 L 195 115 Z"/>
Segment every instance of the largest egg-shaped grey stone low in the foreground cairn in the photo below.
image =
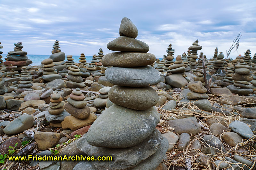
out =
<path fill-rule="evenodd" d="M 114 104 L 94 121 L 87 132 L 87 142 L 108 148 L 131 147 L 153 133 L 159 119 L 153 107 L 139 111 Z"/>

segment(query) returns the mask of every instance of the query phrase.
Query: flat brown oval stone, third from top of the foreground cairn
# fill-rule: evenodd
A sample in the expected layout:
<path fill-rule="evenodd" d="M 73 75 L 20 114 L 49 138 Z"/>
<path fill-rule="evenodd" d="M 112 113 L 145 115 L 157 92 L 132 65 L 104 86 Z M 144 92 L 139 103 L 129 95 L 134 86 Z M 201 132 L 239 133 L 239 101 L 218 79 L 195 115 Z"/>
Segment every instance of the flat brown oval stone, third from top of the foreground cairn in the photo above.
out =
<path fill-rule="evenodd" d="M 151 53 L 114 52 L 108 53 L 102 58 L 102 65 L 114 67 L 140 67 L 153 64 L 155 60 L 156 56 Z"/>

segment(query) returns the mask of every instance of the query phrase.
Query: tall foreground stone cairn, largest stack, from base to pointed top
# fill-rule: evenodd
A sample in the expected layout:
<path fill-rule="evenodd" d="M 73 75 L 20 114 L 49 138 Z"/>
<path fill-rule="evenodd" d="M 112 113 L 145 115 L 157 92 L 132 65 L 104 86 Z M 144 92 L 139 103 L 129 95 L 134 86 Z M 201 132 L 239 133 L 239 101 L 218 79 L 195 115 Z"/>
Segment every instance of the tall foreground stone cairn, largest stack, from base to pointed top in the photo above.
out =
<path fill-rule="evenodd" d="M 158 71 L 148 66 L 156 58 L 147 53 L 146 43 L 135 39 L 138 30 L 130 19 L 122 19 L 119 34 L 107 45 L 109 50 L 119 52 L 106 54 L 102 59 L 104 66 L 112 65 L 108 57 L 116 61 L 105 72 L 108 81 L 115 84 L 108 92 L 115 104 L 95 120 L 77 148 L 87 155 L 108 153 L 114 157 L 111 163 L 84 161 L 84 165 L 91 164 L 94 169 L 156 169 L 168 149 L 167 139 L 156 130 L 159 114 L 153 106 L 158 96 L 149 87 L 160 81 Z M 148 164 L 150 167 L 145 167 Z"/>

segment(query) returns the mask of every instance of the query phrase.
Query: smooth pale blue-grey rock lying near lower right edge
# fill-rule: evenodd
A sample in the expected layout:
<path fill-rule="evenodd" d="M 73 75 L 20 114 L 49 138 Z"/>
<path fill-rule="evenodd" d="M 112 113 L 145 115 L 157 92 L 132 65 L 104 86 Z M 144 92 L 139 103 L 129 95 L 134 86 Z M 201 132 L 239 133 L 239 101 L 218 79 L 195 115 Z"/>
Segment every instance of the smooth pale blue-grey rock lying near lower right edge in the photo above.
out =
<path fill-rule="evenodd" d="M 247 124 L 238 120 L 229 124 L 229 128 L 246 139 L 249 139 L 254 135 Z"/>

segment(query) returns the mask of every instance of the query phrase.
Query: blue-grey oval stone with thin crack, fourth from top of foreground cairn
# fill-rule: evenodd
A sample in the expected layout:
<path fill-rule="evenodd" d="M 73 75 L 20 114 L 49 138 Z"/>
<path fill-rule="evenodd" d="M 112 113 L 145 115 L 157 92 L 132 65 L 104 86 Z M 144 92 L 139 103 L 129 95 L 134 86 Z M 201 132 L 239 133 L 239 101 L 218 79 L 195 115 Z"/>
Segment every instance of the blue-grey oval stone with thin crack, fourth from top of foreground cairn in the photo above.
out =
<path fill-rule="evenodd" d="M 147 87 L 160 82 L 160 74 L 151 67 L 109 67 L 105 70 L 107 80 L 118 86 Z"/>

